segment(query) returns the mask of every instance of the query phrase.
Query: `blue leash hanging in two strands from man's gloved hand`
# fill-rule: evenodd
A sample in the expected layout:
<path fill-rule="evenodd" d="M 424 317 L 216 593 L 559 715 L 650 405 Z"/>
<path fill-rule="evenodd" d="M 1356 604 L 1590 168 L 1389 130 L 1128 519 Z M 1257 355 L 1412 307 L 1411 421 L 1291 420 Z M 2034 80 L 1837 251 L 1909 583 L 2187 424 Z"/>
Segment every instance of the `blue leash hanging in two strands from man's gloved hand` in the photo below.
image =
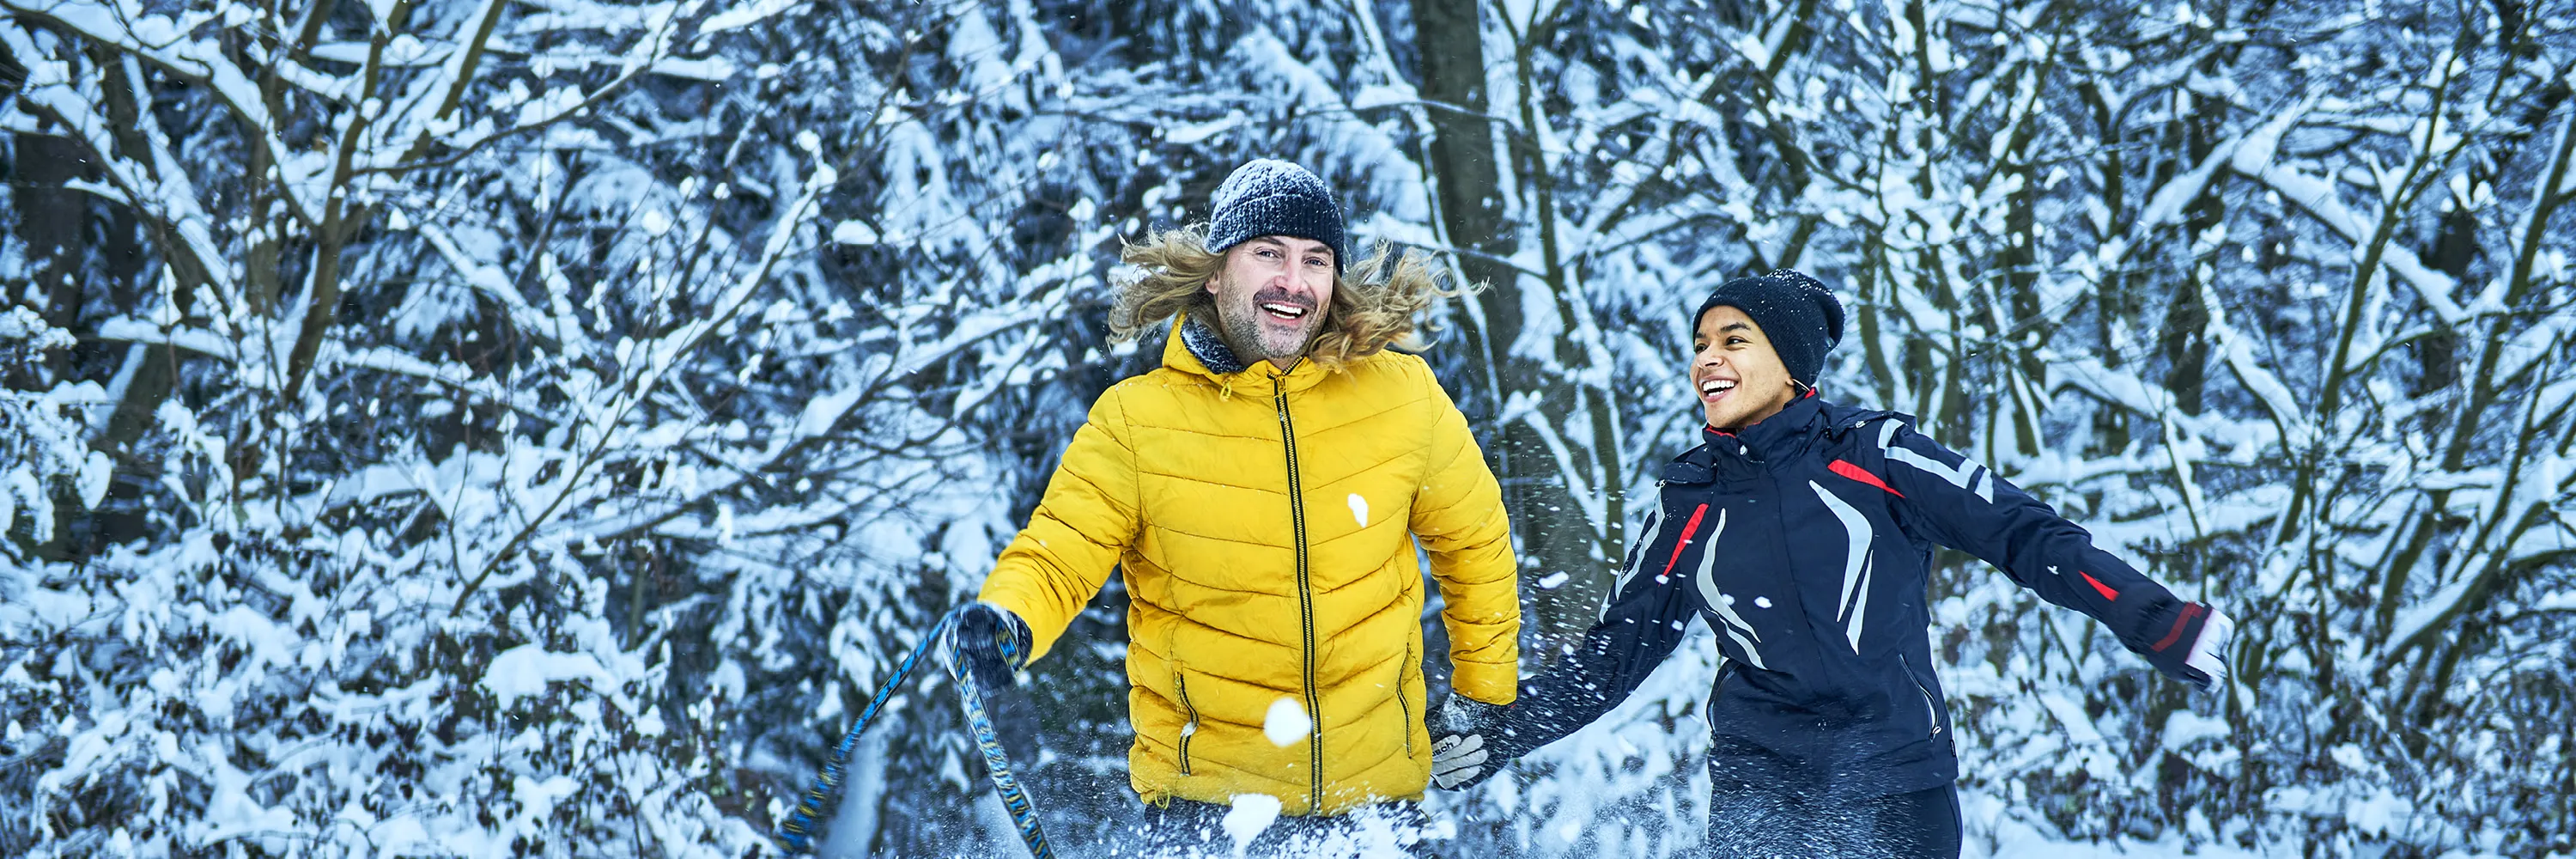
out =
<path fill-rule="evenodd" d="M 868 699 L 868 709 L 858 712 L 858 725 L 850 725 L 850 733 L 840 738 L 837 748 L 832 748 L 832 761 L 814 776 L 814 787 L 809 787 L 804 800 L 796 802 L 796 813 L 791 813 L 786 823 L 778 823 L 778 833 L 773 836 L 778 849 L 791 856 L 814 849 L 814 820 L 819 820 L 824 815 L 824 805 L 840 795 L 840 779 L 850 764 L 850 751 L 858 748 L 858 735 L 868 730 L 868 722 L 876 722 L 876 712 L 886 707 L 894 689 L 904 686 L 904 678 L 912 676 L 912 666 L 917 666 L 933 645 L 948 642 L 948 676 L 958 684 L 958 704 L 966 707 L 966 727 L 974 735 L 974 745 L 984 751 L 984 766 L 992 771 L 992 789 L 1002 795 L 1002 807 L 1010 810 L 1010 820 L 1020 828 L 1020 841 L 1028 844 L 1028 854 L 1036 859 L 1056 859 L 1056 851 L 1046 846 L 1046 831 L 1038 828 L 1038 807 L 1028 802 L 1028 792 L 1023 792 L 1020 779 L 1012 776 L 1010 756 L 1002 751 L 992 717 L 984 712 L 984 689 L 976 686 L 974 671 L 969 671 L 963 653 L 966 645 L 953 635 L 958 617 L 963 617 L 969 606 L 956 606 L 940 617 L 940 622 L 930 627 L 930 635 L 912 647 L 912 655 L 894 668 L 894 676 L 876 689 L 876 696 Z M 1010 637 L 1002 640 L 1002 658 L 1010 663 L 1020 660 L 1018 642 Z"/>

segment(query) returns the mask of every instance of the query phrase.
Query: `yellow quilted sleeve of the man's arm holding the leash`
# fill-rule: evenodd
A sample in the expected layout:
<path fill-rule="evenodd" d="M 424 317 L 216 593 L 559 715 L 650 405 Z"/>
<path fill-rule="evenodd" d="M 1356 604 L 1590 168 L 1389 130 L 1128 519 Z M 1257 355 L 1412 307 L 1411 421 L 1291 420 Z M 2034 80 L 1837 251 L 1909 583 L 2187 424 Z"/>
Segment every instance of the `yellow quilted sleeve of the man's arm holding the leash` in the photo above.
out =
<path fill-rule="evenodd" d="M 1074 431 L 1028 529 L 992 565 L 981 601 L 1028 622 L 1028 658 L 1036 660 L 1110 580 L 1136 526 L 1136 449 L 1113 387 Z"/>

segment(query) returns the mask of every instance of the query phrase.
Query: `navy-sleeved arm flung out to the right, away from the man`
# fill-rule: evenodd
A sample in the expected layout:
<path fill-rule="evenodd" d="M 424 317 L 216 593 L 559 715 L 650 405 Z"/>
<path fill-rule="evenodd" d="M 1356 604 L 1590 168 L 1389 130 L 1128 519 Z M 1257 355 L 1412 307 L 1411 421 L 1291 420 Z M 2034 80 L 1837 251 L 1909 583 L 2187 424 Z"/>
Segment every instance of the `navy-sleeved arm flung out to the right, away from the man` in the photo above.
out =
<path fill-rule="evenodd" d="M 2102 552 L 2089 531 L 2048 503 L 1914 428 L 1883 420 L 1865 431 L 1875 431 L 1875 472 L 1886 475 L 1888 493 L 1904 495 L 1899 511 L 1917 534 L 2002 568 L 2050 604 L 2099 619 L 2156 671 L 2192 684 L 2223 673 L 2215 645 L 2231 624 L 2208 604 L 2177 598 Z M 2202 632 L 2213 635 L 2205 640 Z"/>

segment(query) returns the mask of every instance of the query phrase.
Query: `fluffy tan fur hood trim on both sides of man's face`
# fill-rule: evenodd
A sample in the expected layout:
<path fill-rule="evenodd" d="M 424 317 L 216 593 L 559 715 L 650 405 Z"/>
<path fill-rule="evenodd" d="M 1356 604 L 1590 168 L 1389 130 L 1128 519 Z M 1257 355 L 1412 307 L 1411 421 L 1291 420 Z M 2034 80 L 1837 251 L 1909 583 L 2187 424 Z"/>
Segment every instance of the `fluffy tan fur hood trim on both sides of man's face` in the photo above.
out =
<path fill-rule="evenodd" d="M 1149 230 L 1141 242 L 1126 242 L 1118 255 L 1141 273 L 1118 286 L 1110 307 L 1110 343 L 1133 341 L 1170 325 L 1175 315 L 1198 315 L 1216 325 L 1216 297 L 1208 281 L 1226 268 L 1226 255 L 1208 250 L 1208 224 Z M 1422 250 L 1396 253 L 1391 242 L 1370 245 L 1365 261 L 1345 266 L 1332 281 L 1324 325 L 1306 341 L 1306 356 L 1324 369 L 1373 356 L 1388 346 L 1419 351 L 1417 317 L 1435 299 L 1461 297 L 1476 286 L 1450 289 L 1448 268 Z"/>

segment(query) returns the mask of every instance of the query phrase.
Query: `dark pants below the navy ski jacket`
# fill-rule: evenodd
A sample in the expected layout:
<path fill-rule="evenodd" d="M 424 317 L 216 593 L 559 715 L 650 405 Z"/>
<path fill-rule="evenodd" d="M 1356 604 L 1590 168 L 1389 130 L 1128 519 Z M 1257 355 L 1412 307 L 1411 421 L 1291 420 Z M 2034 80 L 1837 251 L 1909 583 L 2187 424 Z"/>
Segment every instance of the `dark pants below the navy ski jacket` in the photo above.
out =
<path fill-rule="evenodd" d="M 1837 800 L 1736 787 L 1708 802 L 1710 859 L 1958 859 L 1958 789 Z"/>

